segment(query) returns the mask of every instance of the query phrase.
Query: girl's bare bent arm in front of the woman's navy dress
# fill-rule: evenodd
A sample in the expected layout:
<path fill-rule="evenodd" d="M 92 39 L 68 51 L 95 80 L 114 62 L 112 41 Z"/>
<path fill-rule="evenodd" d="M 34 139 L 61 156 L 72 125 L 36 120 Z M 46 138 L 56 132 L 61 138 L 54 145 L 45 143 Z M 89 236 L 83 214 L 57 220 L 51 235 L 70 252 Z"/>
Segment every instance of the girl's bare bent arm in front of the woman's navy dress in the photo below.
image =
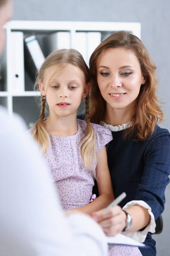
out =
<path fill-rule="evenodd" d="M 77 210 L 92 215 L 93 212 L 107 207 L 114 200 L 105 146 L 97 153 L 96 179 L 99 197 L 88 205 L 69 211 L 67 215 Z"/>

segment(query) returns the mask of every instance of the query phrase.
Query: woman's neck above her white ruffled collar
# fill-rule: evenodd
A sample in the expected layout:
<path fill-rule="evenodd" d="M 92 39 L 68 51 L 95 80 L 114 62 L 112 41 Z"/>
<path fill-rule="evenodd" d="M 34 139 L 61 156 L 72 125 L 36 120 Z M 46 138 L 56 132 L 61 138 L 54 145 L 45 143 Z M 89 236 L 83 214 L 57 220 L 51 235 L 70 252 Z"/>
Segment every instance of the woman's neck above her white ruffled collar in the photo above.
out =
<path fill-rule="evenodd" d="M 134 115 L 134 108 L 113 109 L 111 106 L 106 106 L 105 123 L 113 126 L 126 124 L 131 121 Z"/>

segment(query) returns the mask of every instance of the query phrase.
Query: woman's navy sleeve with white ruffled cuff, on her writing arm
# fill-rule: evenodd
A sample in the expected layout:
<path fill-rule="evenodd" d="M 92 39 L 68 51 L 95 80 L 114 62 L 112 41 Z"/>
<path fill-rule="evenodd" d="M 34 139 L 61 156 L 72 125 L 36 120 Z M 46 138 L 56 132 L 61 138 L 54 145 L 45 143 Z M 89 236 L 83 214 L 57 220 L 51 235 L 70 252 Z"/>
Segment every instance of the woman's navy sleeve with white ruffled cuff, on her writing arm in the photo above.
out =
<path fill-rule="evenodd" d="M 167 130 L 157 134 L 147 144 L 144 151 L 144 173 L 139 183 L 135 200 L 124 209 L 135 204 L 142 205 L 150 214 L 150 223 L 142 231 L 126 233 L 138 241 L 144 241 L 147 232 L 155 232 L 155 220 L 164 211 L 165 189 L 170 182 L 170 133 Z"/>

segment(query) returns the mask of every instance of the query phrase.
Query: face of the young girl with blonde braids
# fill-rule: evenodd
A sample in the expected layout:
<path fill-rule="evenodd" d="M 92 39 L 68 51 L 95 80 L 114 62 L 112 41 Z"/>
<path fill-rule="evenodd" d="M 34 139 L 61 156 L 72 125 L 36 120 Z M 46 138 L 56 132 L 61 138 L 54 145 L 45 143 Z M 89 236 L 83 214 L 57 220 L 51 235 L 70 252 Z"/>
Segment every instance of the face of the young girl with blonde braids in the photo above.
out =
<path fill-rule="evenodd" d="M 82 96 L 88 95 L 82 70 L 72 64 L 63 69 L 58 64 L 47 68 L 39 86 L 41 94 L 46 96 L 50 113 L 57 116 L 77 115 Z"/>

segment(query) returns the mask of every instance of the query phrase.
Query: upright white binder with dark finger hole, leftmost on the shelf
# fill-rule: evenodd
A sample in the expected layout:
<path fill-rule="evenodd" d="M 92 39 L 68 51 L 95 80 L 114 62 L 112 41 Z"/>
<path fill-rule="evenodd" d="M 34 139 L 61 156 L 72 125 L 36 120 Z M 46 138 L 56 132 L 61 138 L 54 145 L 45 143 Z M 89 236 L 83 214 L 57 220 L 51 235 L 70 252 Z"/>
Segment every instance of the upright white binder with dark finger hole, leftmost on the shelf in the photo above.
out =
<path fill-rule="evenodd" d="M 12 91 L 24 91 L 24 37 L 23 32 L 11 32 Z"/>

